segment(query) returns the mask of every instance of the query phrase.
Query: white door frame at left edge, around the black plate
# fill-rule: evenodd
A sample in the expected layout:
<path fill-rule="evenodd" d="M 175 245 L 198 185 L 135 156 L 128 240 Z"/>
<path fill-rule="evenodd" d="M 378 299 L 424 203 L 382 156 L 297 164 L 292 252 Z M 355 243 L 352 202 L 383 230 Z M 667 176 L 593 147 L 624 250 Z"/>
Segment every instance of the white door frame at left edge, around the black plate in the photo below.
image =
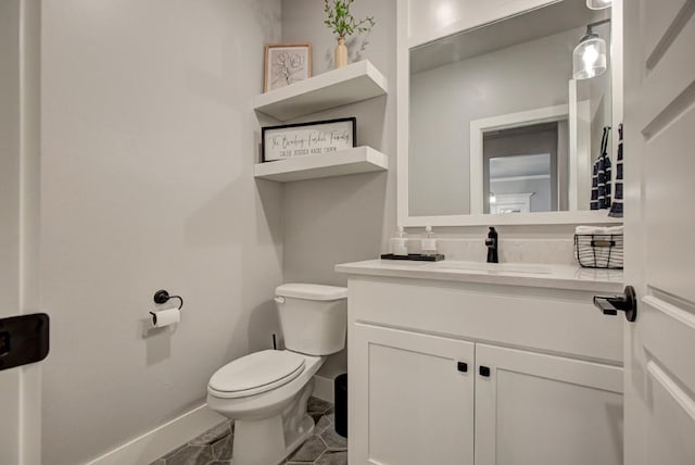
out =
<path fill-rule="evenodd" d="M 0 318 L 38 307 L 38 0 L 0 1 Z M 0 464 L 40 463 L 40 365 L 0 321 Z M 2 368 L 7 369 L 2 369 Z"/>

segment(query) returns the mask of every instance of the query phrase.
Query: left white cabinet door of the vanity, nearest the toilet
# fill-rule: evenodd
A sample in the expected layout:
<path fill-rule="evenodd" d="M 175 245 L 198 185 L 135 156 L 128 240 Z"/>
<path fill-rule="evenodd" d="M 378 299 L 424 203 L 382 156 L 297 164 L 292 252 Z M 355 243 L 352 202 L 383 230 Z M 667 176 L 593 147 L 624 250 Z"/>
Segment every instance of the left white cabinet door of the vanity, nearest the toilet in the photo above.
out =
<path fill-rule="evenodd" d="M 475 344 L 351 330 L 350 464 L 472 464 Z"/>

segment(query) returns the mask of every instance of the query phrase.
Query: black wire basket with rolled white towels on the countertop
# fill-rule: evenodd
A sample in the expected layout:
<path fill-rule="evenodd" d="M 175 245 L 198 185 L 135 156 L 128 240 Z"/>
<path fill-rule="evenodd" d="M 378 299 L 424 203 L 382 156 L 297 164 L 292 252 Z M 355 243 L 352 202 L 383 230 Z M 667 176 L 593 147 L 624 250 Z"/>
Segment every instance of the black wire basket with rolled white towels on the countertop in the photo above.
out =
<path fill-rule="evenodd" d="M 574 256 L 584 268 L 622 269 L 622 235 L 577 234 Z"/>

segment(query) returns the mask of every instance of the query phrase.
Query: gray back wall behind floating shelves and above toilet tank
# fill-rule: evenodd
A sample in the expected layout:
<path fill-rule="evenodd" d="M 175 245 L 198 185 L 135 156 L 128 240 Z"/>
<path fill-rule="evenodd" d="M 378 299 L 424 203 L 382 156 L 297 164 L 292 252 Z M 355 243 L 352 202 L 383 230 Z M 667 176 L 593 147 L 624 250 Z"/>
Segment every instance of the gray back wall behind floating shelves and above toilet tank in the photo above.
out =
<path fill-rule="evenodd" d="M 357 143 L 389 156 L 388 173 L 363 174 L 286 184 L 283 189 L 286 281 L 344 286 L 337 263 L 375 259 L 388 250 L 395 230 L 395 0 L 353 4 L 356 17 L 374 15 L 377 25 L 366 50 L 364 37 L 349 41 L 351 62 L 370 60 L 389 80 L 389 95 L 303 120 L 357 117 Z M 336 38 L 324 25 L 321 0 L 282 0 L 282 40 L 311 41 L 314 75 L 332 68 Z M 332 356 L 320 374 L 345 370 L 345 353 Z"/>

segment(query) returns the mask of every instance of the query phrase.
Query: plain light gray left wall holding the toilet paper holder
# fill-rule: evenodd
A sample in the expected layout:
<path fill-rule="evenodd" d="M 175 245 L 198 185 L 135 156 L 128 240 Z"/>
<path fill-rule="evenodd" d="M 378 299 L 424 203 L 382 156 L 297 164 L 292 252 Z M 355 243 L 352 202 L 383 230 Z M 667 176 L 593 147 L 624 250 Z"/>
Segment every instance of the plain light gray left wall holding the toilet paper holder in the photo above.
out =
<path fill-rule="evenodd" d="M 252 98 L 279 8 L 43 2 L 43 463 L 172 419 L 224 363 L 269 347 L 281 189 L 253 178 Z M 184 297 L 182 322 L 143 337 L 160 288 Z"/>

